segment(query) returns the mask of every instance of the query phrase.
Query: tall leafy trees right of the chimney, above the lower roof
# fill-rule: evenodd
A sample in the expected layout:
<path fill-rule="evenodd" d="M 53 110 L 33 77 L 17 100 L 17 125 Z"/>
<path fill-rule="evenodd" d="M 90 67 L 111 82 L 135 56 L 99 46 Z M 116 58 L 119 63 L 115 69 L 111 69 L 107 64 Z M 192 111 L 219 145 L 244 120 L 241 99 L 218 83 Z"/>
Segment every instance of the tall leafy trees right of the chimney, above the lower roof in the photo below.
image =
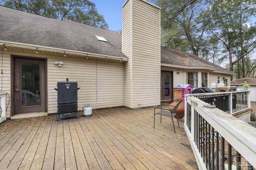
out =
<path fill-rule="evenodd" d="M 161 7 L 162 45 L 227 63 L 238 77 L 255 76 L 255 0 L 150 1 Z"/>

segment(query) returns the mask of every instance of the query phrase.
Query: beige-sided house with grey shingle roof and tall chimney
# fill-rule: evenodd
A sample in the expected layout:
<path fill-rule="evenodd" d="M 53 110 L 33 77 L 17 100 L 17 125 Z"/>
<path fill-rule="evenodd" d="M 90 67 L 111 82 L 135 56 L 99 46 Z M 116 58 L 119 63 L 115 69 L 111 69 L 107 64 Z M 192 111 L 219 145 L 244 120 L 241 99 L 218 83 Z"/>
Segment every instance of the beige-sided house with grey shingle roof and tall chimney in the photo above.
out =
<path fill-rule="evenodd" d="M 10 94 L 11 118 L 56 113 L 54 88 L 66 78 L 78 82 L 82 110 L 85 104 L 93 109 L 157 106 L 173 100 L 177 84 L 196 88 L 225 81 L 230 86 L 234 74 L 161 47 L 160 8 L 146 0 L 126 1 L 122 34 L 3 6 L 0 23 L 2 92 Z"/>

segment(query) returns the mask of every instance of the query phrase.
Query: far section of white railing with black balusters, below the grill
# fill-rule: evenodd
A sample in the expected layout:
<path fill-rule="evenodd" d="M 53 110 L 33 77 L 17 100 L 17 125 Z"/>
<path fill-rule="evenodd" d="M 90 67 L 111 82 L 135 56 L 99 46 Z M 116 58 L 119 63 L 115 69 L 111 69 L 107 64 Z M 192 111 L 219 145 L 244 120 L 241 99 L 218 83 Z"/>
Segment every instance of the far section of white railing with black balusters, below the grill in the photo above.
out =
<path fill-rule="evenodd" d="M 229 114 L 250 109 L 250 91 L 191 94 Z"/>

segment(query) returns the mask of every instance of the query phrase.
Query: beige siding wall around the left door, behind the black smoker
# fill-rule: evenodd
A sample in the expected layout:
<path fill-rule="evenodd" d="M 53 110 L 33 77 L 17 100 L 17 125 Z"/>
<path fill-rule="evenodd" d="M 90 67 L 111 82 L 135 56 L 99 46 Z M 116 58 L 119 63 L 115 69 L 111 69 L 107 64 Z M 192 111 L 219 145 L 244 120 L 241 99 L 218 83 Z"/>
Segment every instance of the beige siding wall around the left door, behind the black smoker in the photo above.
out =
<path fill-rule="evenodd" d="M 10 55 L 47 58 L 48 113 L 57 113 L 57 91 L 54 88 L 57 88 L 58 81 L 66 81 L 66 78 L 78 82 L 78 110 L 82 110 L 85 104 L 90 104 L 93 109 L 124 105 L 124 63 L 6 51 L 3 59 L 2 91 L 9 94 Z M 62 61 L 64 64 L 59 67 L 54 64 L 55 61 Z M 10 117 L 10 105 L 11 103 L 7 109 L 7 117 Z"/>

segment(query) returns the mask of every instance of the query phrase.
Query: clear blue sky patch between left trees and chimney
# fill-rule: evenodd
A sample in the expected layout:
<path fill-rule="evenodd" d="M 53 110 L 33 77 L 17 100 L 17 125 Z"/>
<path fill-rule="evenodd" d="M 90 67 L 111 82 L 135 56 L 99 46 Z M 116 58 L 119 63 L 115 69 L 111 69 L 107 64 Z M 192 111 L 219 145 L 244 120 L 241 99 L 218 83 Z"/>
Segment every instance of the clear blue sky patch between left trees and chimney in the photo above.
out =
<path fill-rule="evenodd" d="M 104 16 L 108 29 L 119 31 L 122 29 L 122 6 L 126 0 L 90 0 L 96 5 L 99 14 Z"/>

